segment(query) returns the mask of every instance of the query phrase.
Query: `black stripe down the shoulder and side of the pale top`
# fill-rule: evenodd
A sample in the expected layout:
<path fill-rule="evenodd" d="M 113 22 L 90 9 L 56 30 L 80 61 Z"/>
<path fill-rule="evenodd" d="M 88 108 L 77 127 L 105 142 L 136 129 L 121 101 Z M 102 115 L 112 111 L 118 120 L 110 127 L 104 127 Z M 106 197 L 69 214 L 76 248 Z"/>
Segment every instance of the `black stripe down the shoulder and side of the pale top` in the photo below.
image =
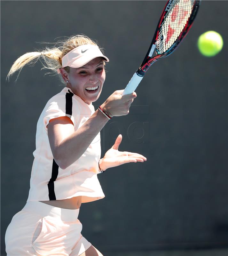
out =
<path fill-rule="evenodd" d="M 72 97 L 74 93 L 72 93 L 70 90 L 68 90 L 68 92 L 66 93 L 66 115 L 72 116 Z M 58 173 L 59 165 L 56 164 L 55 160 L 53 159 L 51 179 L 48 182 L 49 200 L 56 200 L 54 181 L 57 179 Z"/>

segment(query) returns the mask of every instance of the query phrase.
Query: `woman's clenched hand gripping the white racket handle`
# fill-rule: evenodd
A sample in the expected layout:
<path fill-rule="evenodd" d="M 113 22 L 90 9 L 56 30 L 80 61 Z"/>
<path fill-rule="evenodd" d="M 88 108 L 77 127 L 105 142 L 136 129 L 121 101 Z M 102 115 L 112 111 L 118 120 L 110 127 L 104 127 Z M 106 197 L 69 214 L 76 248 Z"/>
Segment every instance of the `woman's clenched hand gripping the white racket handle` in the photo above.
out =
<path fill-rule="evenodd" d="M 137 97 L 136 92 L 122 96 L 124 90 L 115 91 L 101 105 L 101 108 L 112 116 L 126 116 L 134 98 Z"/>

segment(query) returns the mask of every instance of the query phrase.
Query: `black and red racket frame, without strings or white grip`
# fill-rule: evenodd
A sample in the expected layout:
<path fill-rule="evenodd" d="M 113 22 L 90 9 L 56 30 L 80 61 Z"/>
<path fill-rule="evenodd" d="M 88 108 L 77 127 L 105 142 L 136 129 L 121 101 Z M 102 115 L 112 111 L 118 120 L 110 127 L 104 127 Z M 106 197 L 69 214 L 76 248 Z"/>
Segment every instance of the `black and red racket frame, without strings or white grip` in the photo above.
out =
<path fill-rule="evenodd" d="M 155 42 L 157 41 L 157 38 L 158 38 L 158 35 L 159 35 L 159 31 L 160 31 L 160 28 L 161 28 L 161 24 L 165 18 L 165 14 L 169 11 L 169 10 L 166 10 L 166 7 L 168 5 L 170 5 L 170 3 L 173 2 L 173 0 L 169 0 L 166 5 L 165 5 L 165 8 L 162 12 L 162 15 L 161 15 L 161 18 L 158 22 L 158 25 L 157 25 L 157 28 L 156 28 L 156 32 L 154 33 L 154 36 L 153 36 L 153 40 L 150 44 L 150 47 L 149 47 L 149 50 L 148 52 L 146 53 L 146 56 L 142 62 L 142 64 L 140 65 L 140 67 L 138 68 L 137 70 L 137 75 L 138 76 L 144 76 L 145 75 L 145 72 L 147 71 L 147 69 L 157 60 L 161 59 L 161 58 L 165 58 L 167 56 L 169 56 L 171 53 L 173 53 L 176 49 L 177 49 L 177 46 L 180 44 L 180 42 L 184 39 L 184 37 L 187 35 L 189 29 L 192 27 L 193 25 L 193 21 L 196 17 L 196 14 L 199 10 L 199 6 L 200 6 L 200 2 L 201 0 L 196 0 L 194 5 L 193 5 L 193 11 L 192 11 L 192 14 L 190 15 L 184 29 L 182 30 L 180 36 L 178 36 L 177 40 L 173 43 L 173 45 L 164 53 L 158 53 L 157 49 L 155 48 L 155 51 L 157 53 L 156 56 L 154 57 L 150 57 L 149 54 L 150 54 L 150 51 L 151 51 L 151 48 L 154 44 L 156 44 Z M 168 8 L 169 9 L 169 8 Z M 166 10 L 166 11 L 165 11 Z"/>

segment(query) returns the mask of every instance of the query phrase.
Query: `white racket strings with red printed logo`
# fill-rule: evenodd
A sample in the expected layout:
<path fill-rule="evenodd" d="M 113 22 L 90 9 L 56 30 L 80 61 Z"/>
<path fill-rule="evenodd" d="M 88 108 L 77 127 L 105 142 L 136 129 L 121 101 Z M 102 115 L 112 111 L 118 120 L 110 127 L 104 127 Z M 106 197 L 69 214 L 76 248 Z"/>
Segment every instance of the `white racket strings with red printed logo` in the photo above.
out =
<path fill-rule="evenodd" d="M 156 51 L 161 54 L 169 50 L 182 33 L 191 16 L 194 0 L 175 0 L 161 23 Z"/>

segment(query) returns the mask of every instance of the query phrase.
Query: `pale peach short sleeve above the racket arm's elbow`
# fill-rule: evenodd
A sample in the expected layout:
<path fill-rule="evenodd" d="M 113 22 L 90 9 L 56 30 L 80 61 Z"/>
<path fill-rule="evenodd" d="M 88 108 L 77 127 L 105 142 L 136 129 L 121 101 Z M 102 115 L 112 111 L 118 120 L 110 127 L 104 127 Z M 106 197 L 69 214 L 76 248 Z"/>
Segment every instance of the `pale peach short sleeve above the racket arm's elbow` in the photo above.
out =
<path fill-rule="evenodd" d="M 44 109 L 43 117 L 43 124 L 46 130 L 50 120 L 60 116 L 68 116 L 75 125 L 75 117 L 72 115 L 72 94 L 73 93 L 70 92 L 66 93 L 66 95 L 56 95 L 48 101 L 45 107 L 46 110 Z"/>

